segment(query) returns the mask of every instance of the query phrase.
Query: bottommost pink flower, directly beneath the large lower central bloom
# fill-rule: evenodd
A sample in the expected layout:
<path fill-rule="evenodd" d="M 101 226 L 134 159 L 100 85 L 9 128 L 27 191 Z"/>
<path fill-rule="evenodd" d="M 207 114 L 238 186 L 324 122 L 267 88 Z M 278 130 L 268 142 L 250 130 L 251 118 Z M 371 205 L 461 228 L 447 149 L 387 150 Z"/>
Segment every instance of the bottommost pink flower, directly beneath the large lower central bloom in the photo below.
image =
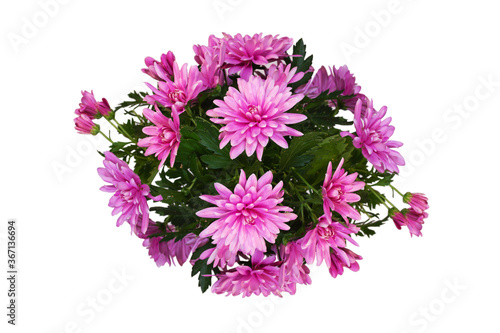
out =
<path fill-rule="evenodd" d="M 281 296 L 279 287 L 279 268 L 275 256 L 265 258 L 263 252 L 255 251 L 252 267 L 238 266 L 218 274 L 218 280 L 212 286 L 212 292 L 226 296 L 243 297 L 254 295 Z"/>

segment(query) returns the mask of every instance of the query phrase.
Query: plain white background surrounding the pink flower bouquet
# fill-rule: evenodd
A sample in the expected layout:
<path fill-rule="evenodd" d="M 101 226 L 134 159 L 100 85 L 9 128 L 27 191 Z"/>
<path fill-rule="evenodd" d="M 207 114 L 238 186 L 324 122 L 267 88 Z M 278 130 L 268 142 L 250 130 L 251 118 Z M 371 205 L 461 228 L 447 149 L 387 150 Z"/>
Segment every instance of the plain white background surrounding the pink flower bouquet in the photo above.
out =
<path fill-rule="evenodd" d="M 2 1 L 0 267 L 15 218 L 20 274 L 14 328 L 1 278 L 1 331 L 497 332 L 498 9 L 390 3 L 74 0 L 48 16 L 37 1 Z M 242 299 L 201 294 L 189 267 L 157 268 L 115 226 L 96 173 L 94 151 L 106 145 L 73 128 L 80 91 L 116 106 L 146 90 L 146 56 L 172 50 L 194 64 L 192 45 L 222 32 L 304 38 L 316 68 L 347 64 L 375 106 L 388 106 L 409 164 L 397 184 L 430 200 L 422 238 L 388 223 L 358 238 L 359 272 L 332 279 L 322 266 L 295 296 Z"/>

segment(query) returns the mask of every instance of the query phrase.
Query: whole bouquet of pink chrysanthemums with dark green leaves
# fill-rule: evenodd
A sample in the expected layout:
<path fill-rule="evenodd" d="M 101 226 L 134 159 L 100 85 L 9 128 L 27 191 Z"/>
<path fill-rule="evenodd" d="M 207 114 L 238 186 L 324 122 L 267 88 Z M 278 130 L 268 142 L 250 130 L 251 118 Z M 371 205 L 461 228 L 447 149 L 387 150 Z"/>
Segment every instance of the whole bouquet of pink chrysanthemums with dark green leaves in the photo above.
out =
<path fill-rule="evenodd" d="M 84 91 L 76 110 L 80 133 L 110 142 L 97 171 L 117 225 L 156 265 L 189 260 L 203 292 L 281 296 L 311 283 L 314 262 L 357 271 L 354 236 L 389 219 L 421 235 L 427 198 L 391 185 L 402 143 L 346 66 L 314 69 L 302 40 L 278 35 L 193 49 L 193 65 L 147 57 L 147 92 L 111 108 Z"/>

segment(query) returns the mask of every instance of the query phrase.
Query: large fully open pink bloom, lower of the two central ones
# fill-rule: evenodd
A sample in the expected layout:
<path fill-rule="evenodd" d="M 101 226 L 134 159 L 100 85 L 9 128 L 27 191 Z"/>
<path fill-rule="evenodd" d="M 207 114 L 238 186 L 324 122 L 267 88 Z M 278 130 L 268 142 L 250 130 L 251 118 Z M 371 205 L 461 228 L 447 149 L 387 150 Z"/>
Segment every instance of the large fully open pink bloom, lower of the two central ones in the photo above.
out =
<path fill-rule="evenodd" d="M 217 207 L 196 213 L 199 217 L 215 218 L 200 237 L 212 237 L 213 244 L 229 246 L 229 251 L 252 255 L 256 250 L 266 251 L 266 243 L 274 243 L 280 230 L 288 230 L 286 222 L 297 215 L 289 213 L 290 207 L 279 206 L 283 201 L 283 182 L 274 188 L 273 174 L 266 172 L 257 180 L 252 174 L 246 178 L 241 170 L 234 193 L 222 184 L 215 183 L 219 195 L 202 195 L 200 198 Z M 285 212 L 285 213 L 282 213 Z"/>

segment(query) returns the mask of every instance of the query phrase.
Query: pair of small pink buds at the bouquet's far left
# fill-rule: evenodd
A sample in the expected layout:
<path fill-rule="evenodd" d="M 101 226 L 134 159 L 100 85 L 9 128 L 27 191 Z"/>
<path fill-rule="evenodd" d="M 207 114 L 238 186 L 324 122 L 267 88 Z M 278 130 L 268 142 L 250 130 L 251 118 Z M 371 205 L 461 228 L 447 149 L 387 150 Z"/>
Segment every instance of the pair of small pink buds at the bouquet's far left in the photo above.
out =
<path fill-rule="evenodd" d="M 107 117 L 110 115 L 111 107 L 105 98 L 97 102 L 93 91 L 82 91 L 82 95 L 80 107 L 75 110 L 78 116 L 74 120 L 75 129 L 81 134 L 96 135 L 99 133 L 100 128 L 93 120 L 101 116 Z"/>

